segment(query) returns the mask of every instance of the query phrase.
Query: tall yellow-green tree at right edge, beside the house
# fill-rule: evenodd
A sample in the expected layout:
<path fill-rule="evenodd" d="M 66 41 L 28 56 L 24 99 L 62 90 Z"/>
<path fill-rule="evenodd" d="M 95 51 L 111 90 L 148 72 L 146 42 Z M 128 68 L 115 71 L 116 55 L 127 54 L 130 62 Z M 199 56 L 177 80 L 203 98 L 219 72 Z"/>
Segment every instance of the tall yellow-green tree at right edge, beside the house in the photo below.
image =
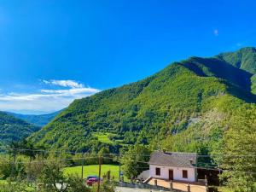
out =
<path fill-rule="evenodd" d="M 235 191 L 255 191 L 256 109 L 239 111 L 224 135 L 221 179 Z"/>

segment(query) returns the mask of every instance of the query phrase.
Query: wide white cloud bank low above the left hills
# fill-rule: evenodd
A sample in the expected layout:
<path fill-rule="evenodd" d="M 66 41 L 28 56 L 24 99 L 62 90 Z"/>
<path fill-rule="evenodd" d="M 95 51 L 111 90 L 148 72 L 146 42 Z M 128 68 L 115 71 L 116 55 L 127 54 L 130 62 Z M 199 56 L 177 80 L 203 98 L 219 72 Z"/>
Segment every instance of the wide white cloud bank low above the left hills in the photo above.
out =
<path fill-rule="evenodd" d="M 72 80 L 42 80 L 42 82 L 46 85 L 61 86 L 62 89 L 41 89 L 32 93 L 2 93 L 0 110 L 49 113 L 66 108 L 74 99 L 91 96 L 100 91 Z"/>

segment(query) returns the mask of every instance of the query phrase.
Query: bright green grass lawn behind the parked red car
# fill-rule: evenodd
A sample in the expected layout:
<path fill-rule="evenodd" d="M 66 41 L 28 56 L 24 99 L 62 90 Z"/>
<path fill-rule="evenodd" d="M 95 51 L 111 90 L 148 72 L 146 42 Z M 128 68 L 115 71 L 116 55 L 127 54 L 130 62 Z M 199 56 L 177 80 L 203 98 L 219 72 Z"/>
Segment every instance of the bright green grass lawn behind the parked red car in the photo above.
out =
<path fill-rule="evenodd" d="M 119 180 L 119 166 L 113 165 L 102 165 L 102 175 L 106 174 L 110 170 L 111 177 L 114 177 L 115 181 Z M 65 174 L 77 174 L 81 176 L 82 174 L 82 166 L 72 166 L 66 167 L 63 169 Z M 99 174 L 99 166 L 98 165 L 91 165 L 91 166 L 84 166 L 84 178 L 88 177 L 89 175 L 98 175 Z M 128 181 L 127 177 L 125 177 L 125 181 Z"/>

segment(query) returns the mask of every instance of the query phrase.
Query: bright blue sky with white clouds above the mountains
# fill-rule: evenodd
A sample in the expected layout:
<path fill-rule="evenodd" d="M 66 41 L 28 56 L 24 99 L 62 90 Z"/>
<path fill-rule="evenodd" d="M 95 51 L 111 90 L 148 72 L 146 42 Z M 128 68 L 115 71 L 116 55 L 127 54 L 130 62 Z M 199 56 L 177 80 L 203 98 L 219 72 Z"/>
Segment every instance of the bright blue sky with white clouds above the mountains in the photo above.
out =
<path fill-rule="evenodd" d="M 256 46 L 255 1 L 0 0 L 0 110 L 48 113 L 191 55 Z"/>

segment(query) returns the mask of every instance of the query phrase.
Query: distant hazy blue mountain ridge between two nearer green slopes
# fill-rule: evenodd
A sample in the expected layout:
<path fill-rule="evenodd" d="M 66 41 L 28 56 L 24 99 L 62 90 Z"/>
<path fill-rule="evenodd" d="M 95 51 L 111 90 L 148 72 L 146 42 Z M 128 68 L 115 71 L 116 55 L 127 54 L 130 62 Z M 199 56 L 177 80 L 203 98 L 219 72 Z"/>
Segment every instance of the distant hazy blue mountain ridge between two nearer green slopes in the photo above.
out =
<path fill-rule="evenodd" d="M 61 113 L 61 111 L 57 111 L 55 113 L 49 113 L 49 114 L 39 114 L 39 115 L 35 115 L 35 114 L 20 114 L 20 113 L 9 113 L 9 114 L 15 116 L 16 118 L 23 119 L 27 123 L 30 123 L 32 125 L 36 125 L 36 126 L 41 126 L 42 127 L 44 125 L 47 125 L 52 119 L 55 119 L 55 116 L 58 113 Z"/>

